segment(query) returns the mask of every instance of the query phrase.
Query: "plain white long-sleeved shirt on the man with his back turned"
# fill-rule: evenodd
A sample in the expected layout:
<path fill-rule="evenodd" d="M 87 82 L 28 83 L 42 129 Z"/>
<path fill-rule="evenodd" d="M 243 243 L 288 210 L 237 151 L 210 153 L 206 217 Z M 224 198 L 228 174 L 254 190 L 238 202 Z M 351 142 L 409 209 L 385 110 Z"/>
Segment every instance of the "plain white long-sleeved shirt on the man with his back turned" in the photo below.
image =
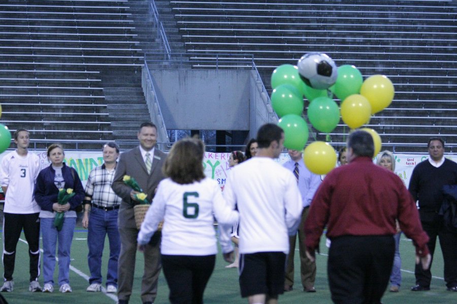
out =
<path fill-rule="evenodd" d="M 240 253 L 289 252 L 288 230 L 302 214 L 302 197 L 292 172 L 267 157 L 233 167 L 223 192 L 240 212 Z"/>

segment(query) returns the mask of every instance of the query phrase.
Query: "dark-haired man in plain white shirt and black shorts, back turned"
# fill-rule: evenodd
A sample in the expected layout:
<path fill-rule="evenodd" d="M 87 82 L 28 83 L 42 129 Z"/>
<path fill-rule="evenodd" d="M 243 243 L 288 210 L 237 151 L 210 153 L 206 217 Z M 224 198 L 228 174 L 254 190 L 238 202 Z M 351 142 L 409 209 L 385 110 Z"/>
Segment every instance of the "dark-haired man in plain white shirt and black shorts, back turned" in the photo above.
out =
<path fill-rule="evenodd" d="M 260 127 L 258 152 L 234 167 L 224 198 L 240 212 L 240 288 L 249 303 L 277 303 L 284 288 L 288 232 L 295 231 L 303 210 L 292 172 L 275 158 L 284 145 L 284 132 L 274 124 Z"/>

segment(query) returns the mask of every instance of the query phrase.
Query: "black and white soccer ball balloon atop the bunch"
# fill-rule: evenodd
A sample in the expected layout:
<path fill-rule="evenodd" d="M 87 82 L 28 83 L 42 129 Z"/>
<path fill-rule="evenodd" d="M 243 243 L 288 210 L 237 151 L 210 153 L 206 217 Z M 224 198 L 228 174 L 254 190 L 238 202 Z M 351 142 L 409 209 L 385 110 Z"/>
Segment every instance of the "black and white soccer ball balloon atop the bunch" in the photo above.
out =
<path fill-rule="evenodd" d="M 335 62 L 323 53 L 308 53 L 297 63 L 300 78 L 314 89 L 327 89 L 335 84 L 338 71 Z"/>

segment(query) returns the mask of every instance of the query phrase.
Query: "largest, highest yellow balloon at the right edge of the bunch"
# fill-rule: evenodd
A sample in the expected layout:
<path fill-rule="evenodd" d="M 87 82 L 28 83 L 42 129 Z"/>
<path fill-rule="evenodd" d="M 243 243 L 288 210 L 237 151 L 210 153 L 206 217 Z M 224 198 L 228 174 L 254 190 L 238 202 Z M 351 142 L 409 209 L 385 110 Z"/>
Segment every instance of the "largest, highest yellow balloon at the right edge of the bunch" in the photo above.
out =
<path fill-rule="evenodd" d="M 371 104 L 371 113 L 382 111 L 390 105 L 394 99 L 395 90 L 392 82 L 384 75 L 373 75 L 367 78 L 360 94 L 365 96 Z"/>

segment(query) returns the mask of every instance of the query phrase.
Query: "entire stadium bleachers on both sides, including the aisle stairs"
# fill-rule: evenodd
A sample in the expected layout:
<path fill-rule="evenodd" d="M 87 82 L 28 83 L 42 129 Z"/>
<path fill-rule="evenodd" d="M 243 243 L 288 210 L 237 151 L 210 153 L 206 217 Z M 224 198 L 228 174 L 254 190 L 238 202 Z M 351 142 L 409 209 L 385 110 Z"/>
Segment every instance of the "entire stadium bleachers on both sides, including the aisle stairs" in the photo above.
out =
<path fill-rule="evenodd" d="M 98 148 L 105 140 L 126 148 L 136 142 L 138 125 L 150 120 L 141 89 L 145 53 L 150 68 L 215 68 L 216 59 L 219 68 L 241 68 L 253 60 L 271 92 L 275 67 L 296 64 L 308 52 L 323 52 L 337 65 L 355 65 L 365 78 L 384 74 L 394 83 L 393 103 L 368 125 L 381 135 L 385 148 L 423 151 L 429 136 L 443 135 L 447 146 L 457 149 L 455 2 L 153 4 L 2 2 L 0 123 L 8 122 L 11 130 L 32 128 L 39 147 L 46 146 L 45 139 L 64 140 L 71 147 L 67 138 L 72 136 L 79 148 Z M 329 139 L 310 131 L 318 140 Z M 66 132 L 73 135 L 66 137 Z M 332 144 L 344 145 L 347 133 L 339 125 L 330 134 Z"/>

